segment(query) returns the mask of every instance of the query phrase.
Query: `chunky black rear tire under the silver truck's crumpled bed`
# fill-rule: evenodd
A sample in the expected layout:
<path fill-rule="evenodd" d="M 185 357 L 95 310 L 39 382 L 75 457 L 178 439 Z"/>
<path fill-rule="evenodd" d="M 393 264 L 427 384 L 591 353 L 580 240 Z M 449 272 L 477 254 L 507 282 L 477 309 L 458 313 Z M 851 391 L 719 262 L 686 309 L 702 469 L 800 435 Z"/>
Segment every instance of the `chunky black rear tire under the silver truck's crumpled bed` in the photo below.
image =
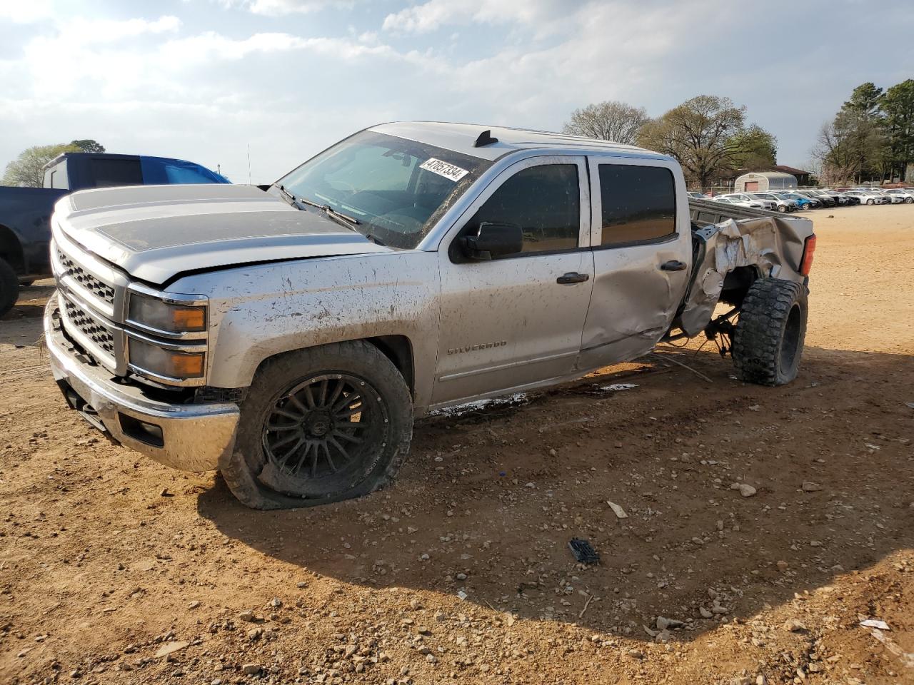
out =
<path fill-rule="evenodd" d="M 781 279 L 758 279 L 739 310 L 733 364 L 747 383 L 784 385 L 796 378 L 806 337 L 806 289 Z"/>

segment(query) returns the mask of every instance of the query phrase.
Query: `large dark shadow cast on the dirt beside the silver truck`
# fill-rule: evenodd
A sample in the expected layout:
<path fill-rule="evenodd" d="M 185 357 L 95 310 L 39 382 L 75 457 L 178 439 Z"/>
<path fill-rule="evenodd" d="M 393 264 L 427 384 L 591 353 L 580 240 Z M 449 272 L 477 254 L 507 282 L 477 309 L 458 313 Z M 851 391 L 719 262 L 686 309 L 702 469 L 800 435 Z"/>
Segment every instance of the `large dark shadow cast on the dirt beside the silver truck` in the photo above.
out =
<path fill-rule="evenodd" d="M 766 388 L 684 352 L 425 419 L 397 482 L 359 501 L 255 512 L 218 479 L 197 510 L 339 582 L 645 640 L 657 616 L 688 639 L 914 546 L 911 357 L 809 348 Z M 572 537 L 600 563 L 577 564 Z"/>

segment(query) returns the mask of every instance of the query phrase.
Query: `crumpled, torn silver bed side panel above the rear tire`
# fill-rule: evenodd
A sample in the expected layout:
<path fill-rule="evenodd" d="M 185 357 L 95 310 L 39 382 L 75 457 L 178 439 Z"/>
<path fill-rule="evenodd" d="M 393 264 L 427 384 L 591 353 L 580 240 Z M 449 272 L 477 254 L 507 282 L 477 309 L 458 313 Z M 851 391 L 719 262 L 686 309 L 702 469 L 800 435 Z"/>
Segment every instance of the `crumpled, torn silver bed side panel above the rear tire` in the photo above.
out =
<path fill-rule="evenodd" d="M 753 267 L 763 277 L 802 283 L 800 262 L 805 240 L 813 235 L 813 222 L 775 216 L 727 219 L 699 228 L 693 235 L 696 264 L 680 316 L 682 329 L 690 336 L 702 332 L 711 321 L 727 274 L 734 269 Z"/>

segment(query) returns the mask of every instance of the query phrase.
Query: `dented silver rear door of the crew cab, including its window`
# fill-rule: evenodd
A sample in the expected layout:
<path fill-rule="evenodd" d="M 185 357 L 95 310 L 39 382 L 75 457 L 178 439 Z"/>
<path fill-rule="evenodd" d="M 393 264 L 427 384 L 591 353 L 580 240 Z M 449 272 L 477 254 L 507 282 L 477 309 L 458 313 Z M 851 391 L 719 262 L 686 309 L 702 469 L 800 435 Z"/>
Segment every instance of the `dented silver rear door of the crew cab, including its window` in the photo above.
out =
<path fill-rule="evenodd" d="M 675 163 L 624 157 L 589 163 L 594 283 L 583 370 L 649 352 L 673 321 L 692 262 L 685 183 Z"/>

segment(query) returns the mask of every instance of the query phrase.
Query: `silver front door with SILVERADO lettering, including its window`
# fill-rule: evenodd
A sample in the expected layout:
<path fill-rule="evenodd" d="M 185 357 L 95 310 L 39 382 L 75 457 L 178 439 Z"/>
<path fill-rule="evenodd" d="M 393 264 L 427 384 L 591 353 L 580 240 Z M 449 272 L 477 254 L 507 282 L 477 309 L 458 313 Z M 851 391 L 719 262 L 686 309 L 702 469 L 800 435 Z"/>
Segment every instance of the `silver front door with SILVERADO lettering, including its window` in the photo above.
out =
<path fill-rule="evenodd" d="M 587 178 L 584 157 L 515 163 L 444 237 L 433 405 L 572 373 L 593 284 Z M 522 227 L 522 251 L 466 259 L 462 237 L 483 221 Z"/>

